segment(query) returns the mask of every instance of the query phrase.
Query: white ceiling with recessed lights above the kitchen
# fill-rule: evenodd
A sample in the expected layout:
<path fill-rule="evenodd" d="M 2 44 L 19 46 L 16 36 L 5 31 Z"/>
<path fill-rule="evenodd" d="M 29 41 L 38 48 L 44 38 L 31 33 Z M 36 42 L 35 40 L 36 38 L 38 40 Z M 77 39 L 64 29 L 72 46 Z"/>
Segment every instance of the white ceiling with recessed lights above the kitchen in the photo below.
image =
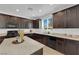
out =
<path fill-rule="evenodd" d="M 71 6 L 74 4 L 0 4 L 0 13 L 37 19 Z"/>

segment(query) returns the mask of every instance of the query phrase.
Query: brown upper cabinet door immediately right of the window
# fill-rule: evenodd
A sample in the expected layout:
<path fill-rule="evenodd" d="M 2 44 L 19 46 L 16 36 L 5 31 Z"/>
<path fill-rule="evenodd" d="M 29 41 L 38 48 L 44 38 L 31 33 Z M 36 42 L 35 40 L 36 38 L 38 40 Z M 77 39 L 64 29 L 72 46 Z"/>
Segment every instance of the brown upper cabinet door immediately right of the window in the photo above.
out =
<path fill-rule="evenodd" d="M 64 28 L 66 27 L 66 11 L 61 11 L 53 14 L 53 27 L 54 28 Z"/>

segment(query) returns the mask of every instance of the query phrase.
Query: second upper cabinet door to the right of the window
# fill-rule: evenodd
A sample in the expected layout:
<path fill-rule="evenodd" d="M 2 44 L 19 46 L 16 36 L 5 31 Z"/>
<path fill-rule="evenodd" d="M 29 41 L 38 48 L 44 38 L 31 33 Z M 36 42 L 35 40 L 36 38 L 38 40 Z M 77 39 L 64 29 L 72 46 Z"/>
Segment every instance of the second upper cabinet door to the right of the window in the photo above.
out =
<path fill-rule="evenodd" d="M 67 9 L 67 28 L 76 28 L 76 7 Z"/>

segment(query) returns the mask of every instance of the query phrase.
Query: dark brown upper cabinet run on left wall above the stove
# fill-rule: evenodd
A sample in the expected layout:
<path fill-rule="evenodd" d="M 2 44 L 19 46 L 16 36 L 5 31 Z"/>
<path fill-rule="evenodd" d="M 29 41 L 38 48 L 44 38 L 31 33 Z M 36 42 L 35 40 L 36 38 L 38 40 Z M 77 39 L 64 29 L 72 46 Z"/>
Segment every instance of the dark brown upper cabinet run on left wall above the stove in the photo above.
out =
<path fill-rule="evenodd" d="M 0 28 L 39 28 L 39 20 L 29 20 L 22 17 L 0 14 Z"/>

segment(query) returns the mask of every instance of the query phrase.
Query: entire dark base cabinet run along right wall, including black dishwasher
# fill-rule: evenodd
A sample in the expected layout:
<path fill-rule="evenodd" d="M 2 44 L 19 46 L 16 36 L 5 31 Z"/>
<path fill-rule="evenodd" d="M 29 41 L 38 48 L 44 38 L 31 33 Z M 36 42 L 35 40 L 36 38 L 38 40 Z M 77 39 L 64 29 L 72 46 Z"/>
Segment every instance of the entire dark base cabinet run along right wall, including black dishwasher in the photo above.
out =
<path fill-rule="evenodd" d="M 65 55 L 79 55 L 79 41 L 39 34 L 29 37 Z"/>

